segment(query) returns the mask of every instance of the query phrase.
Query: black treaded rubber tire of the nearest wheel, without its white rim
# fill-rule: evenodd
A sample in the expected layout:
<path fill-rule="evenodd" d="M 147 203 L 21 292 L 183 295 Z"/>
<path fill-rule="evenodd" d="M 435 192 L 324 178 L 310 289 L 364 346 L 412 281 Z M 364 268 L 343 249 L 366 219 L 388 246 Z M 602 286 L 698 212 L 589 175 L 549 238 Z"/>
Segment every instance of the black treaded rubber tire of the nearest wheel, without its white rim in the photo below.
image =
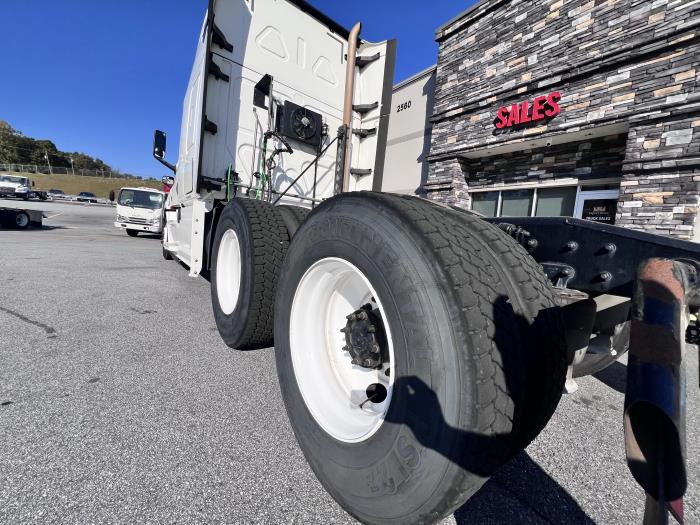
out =
<path fill-rule="evenodd" d="M 372 283 L 394 344 L 385 421 L 359 443 L 318 424 L 291 360 L 297 285 L 328 257 Z M 277 372 L 299 445 L 336 501 L 377 524 L 446 516 L 537 435 L 561 397 L 563 333 L 540 267 L 497 227 L 425 200 L 365 192 L 330 199 L 304 222 L 275 312 Z"/>

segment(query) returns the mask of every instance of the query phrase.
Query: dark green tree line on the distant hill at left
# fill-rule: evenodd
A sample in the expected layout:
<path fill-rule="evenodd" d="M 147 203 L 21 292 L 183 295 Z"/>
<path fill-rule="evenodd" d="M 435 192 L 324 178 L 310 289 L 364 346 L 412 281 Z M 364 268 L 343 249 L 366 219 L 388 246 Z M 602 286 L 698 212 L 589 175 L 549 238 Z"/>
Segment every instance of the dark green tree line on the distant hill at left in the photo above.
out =
<path fill-rule="evenodd" d="M 60 151 L 50 140 L 25 136 L 8 122 L 0 120 L 0 164 L 36 164 L 46 166 L 46 156 L 51 167 L 73 168 L 74 170 L 101 170 L 115 175 L 130 177 L 121 173 L 101 159 L 77 151 Z M 72 160 L 72 165 L 71 165 Z"/>

